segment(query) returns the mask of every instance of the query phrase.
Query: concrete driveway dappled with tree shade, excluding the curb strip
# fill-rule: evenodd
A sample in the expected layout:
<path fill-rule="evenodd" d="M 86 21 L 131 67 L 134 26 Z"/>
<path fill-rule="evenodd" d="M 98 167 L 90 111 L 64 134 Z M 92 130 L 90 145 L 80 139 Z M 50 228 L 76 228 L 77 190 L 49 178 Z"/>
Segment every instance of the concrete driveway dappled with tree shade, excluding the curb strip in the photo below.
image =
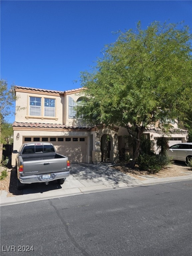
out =
<path fill-rule="evenodd" d="M 34 193 L 56 193 L 58 190 L 62 193 L 66 190 L 78 192 L 89 192 L 101 189 L 123 188 L 140 184 L 137 179 L 111 168 L 112 164 L 71 164 L 70 176 L 64 184 L 58 185 L 57 181 L 50 182 L 48 185 L 38 183 L 29 184 L 23 189 L 23 194 Z"/>

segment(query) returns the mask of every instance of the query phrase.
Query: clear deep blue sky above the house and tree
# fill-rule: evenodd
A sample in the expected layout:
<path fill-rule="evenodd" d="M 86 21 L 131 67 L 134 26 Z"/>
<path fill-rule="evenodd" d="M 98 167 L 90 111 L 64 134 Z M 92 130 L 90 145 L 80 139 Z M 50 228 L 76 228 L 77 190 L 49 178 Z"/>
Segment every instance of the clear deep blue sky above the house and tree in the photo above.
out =
<path fill-rule="evenodd" d="M 145 29 L 154 20 L 192 27 L 192 1 L 1 0 L 1 78 L 50 90 L 81 87 L 112 31 Z M 74 83 L 74 80 L 78 82 Z M 14 119 L 14 118 L 13 118 Z M 11 120 L 10 120 L 11 121 Z"/>

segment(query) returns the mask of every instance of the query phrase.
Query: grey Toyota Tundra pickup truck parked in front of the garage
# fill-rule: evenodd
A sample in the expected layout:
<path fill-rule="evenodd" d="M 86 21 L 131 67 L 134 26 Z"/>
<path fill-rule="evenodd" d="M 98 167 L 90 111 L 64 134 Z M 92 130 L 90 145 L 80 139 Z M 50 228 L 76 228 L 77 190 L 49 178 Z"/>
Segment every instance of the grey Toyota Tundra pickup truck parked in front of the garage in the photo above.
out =
<path fill-rule="evenodd" d="M 63 184 L 69 176 L 69 160 L 56 153 L 51 143 L 24 143 L 16 155 L 17 189 L 24 184 L 57 180 Z"/>

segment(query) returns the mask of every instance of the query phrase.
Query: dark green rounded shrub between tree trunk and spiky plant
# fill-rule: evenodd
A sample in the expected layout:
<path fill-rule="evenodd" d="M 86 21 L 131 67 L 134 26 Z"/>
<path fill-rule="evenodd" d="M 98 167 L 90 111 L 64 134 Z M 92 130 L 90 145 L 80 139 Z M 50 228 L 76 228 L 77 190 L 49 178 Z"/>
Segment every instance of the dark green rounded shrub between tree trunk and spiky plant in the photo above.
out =
<path fill-rule="evenodd" d="M 161 170 L 161 166 L 157 163 L 155 155 L 139 155 L 137 162 L 141 170 L 148 171 L 150 173 L 157 173 Z"/>

